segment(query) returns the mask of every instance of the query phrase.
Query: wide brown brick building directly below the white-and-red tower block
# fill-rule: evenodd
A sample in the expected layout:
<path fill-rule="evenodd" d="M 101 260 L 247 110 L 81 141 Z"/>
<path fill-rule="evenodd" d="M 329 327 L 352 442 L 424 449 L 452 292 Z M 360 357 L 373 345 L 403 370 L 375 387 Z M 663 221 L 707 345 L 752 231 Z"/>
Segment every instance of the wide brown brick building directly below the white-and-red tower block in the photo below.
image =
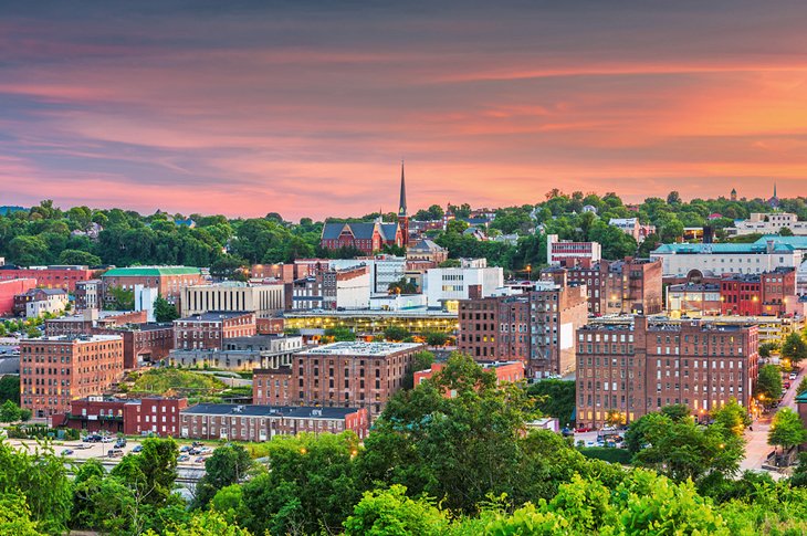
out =
<path fill-rule="evenodd" d="M 586 259 L 542 270 L 541 278 L 558 285 L 586 285 L 588 313 L 595 316 L 654 315 L 664 307 L 661 261 L 626 258 L 591 263 Z"/>

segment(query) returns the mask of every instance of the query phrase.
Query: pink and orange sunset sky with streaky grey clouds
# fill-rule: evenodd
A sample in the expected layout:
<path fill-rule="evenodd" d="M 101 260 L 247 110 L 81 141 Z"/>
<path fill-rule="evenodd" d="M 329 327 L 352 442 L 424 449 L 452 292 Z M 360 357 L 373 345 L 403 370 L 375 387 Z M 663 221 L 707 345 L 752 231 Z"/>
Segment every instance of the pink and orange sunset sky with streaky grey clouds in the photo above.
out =
<path fill-rule="evenodd" d="M 807 2 L 0 3 L 0 204 L 807 195 Z"/>

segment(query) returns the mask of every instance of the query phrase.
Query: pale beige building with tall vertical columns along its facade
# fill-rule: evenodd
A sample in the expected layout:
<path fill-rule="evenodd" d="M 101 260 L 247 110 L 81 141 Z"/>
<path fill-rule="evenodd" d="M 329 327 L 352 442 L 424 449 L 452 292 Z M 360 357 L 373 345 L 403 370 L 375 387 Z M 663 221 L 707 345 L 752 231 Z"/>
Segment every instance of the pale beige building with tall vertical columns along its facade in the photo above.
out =
<path fill-rule="evenodd" d="M 182 288 L 181 315 L 192 316 L 208 311 L 250 311 L 256 318 L 271 318 L 284 304 L 284 285 L 256 285 L 227 281 Z"/>

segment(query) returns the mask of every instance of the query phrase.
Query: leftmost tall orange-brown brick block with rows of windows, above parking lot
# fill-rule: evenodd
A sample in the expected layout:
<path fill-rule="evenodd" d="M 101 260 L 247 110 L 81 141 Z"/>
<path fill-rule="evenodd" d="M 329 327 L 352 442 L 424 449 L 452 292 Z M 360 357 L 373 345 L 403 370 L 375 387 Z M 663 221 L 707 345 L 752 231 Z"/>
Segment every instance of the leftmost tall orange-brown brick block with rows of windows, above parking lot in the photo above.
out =
<path fill-rule="evenodd" d="M 20 341 L 21 402 L 35 417 L 64 413 L 75 398 L 103 395 L 123 371 L 123 338 L 117 335 Z"/>

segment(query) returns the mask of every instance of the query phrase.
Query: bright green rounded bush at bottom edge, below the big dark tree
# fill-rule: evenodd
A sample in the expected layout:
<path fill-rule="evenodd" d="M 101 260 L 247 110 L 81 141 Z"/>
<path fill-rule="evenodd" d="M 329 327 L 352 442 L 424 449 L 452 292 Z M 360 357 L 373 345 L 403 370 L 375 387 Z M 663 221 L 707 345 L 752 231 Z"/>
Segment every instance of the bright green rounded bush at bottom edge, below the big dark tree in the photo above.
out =
<path fill-rule="evenodd" d="M 406 487 L 365 492 L 345 521 L 345 535 L 433 535 L 448 532 L 449 521 L 430 498 L 406 496 Z"/>

